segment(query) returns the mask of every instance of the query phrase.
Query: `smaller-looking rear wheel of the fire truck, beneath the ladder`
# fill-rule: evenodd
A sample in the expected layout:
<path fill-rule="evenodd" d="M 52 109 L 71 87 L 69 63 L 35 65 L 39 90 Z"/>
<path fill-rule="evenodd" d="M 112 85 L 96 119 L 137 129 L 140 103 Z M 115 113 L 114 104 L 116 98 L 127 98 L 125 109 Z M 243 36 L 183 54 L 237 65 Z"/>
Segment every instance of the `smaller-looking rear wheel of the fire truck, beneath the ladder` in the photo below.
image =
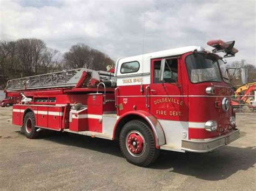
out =
<path fill-rule="evenodd" d="M 26 113 L 22 127 L 26 138 L 33 139 L 38 136 L 38 132 L 36 131 L 38 128 L 35 127 L 35 122 L 35 115 L 32 112 Z"/>

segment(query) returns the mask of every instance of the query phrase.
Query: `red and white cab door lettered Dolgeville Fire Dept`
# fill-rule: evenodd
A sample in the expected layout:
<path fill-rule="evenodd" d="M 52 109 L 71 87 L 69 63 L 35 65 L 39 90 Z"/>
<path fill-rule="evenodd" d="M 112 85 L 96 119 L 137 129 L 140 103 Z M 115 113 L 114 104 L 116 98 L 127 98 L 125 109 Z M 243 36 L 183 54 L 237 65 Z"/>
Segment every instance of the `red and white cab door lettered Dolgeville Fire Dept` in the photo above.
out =
<path fill-rule="evenodd" d="M 180 147 L 188 129 L 188 98 L 186 86 L 182 84 L 181 59 L 166 58 L 164 81 L 160 81 L 161 60 L 151 60 L 151 84 L 147 90 L 149 111 L 160 122 L 166 144 Z"/>

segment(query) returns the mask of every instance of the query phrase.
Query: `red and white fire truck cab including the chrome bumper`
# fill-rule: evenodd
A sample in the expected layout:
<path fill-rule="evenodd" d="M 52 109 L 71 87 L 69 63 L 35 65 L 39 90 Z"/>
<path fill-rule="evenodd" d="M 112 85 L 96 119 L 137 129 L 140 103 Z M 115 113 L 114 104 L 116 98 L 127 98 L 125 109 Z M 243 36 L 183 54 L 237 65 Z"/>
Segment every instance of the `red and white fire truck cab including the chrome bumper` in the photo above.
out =
<path fill-rule="evenodd" d="M 188 46 L 117 61 L 117 114 L 145 112 L 171 151 L 208 152 L 239 137 L 220 56 Z M 222 63 L 221 63 L 222 64 Z"/>

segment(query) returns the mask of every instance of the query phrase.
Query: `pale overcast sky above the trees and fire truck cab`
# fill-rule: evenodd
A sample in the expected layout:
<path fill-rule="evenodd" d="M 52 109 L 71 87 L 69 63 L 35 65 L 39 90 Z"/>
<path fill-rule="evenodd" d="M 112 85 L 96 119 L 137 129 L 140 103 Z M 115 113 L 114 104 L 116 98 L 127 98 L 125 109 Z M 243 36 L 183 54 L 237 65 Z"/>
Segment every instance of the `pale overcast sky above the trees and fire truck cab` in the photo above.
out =
<path fill-rule="evenodd" d="M 255 1 L 0 0 L 1 39 L 39 38 L 60 52 L 84 43 L 132 56 L 210 39 L 236 40 L 228 61 L 255 64 Z M 210 48 L 211 47 L 207 47 Z"/>

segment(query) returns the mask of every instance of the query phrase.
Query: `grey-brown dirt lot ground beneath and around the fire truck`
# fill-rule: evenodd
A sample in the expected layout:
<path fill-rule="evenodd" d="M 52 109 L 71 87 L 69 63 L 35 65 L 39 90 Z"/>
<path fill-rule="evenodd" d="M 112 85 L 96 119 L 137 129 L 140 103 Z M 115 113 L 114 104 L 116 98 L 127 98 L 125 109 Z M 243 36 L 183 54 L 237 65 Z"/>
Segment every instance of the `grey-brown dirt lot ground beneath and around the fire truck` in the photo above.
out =
<path fill-rule="evenodd" d="M 255 190 L 256 115 L 237 115 L 241 138 L 210 153 L 161 151 L 148 168 L 117 142 L 54 133 L 27 139 L 0 108 L 0 189 Z"/>

